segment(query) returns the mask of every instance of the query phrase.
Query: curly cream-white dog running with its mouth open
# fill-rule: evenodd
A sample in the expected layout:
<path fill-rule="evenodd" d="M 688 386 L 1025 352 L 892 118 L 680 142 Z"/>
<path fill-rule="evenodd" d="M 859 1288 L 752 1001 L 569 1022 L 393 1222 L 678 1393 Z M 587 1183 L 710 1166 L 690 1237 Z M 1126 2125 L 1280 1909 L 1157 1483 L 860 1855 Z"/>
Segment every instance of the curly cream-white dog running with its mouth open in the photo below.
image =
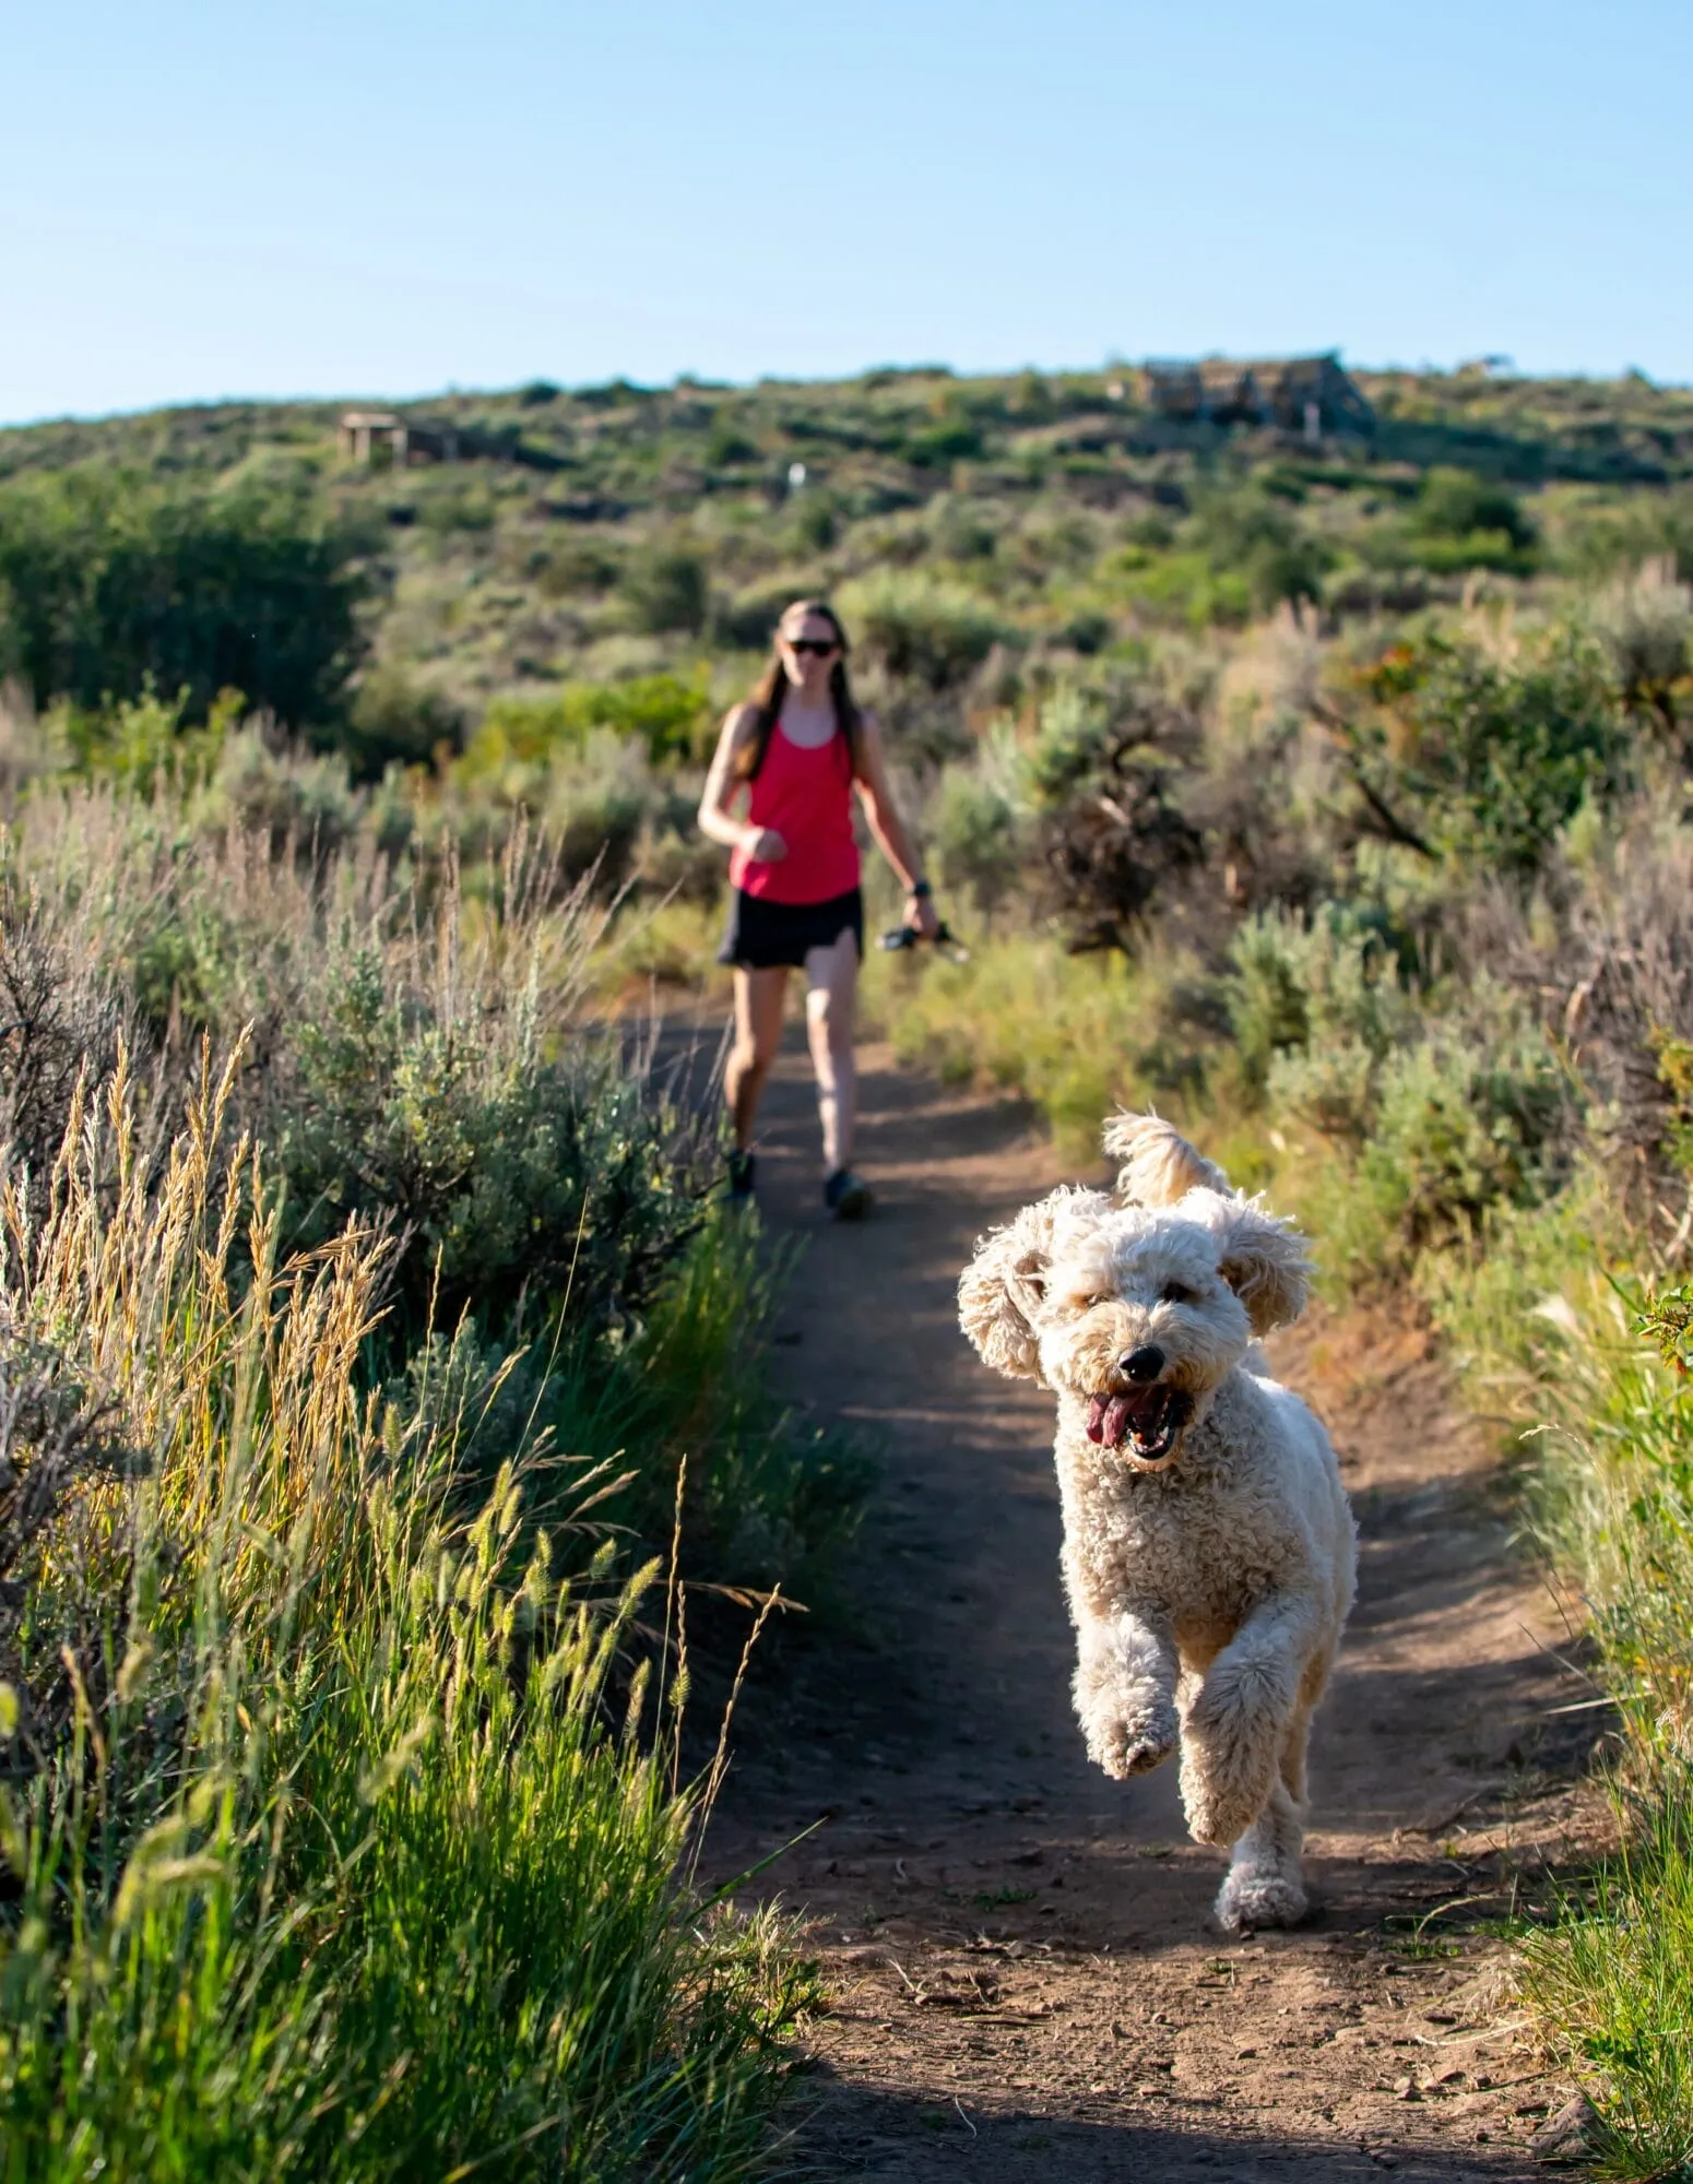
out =
<path fill-rule="evenodd" d="M 1075 1706 L 1108 1776 L 1182 1738 L 1182 1804 L 1234 1845 L 1217 1918 L 1304 1918 L 1304 1756 L 1352 1605 L 1357 1535 L 1311 1411 L 1256 1334 L 1306 1302 L 1291 1223 L 1158 1116 L 1121 1114 L 1116 1197 L 1064 1188 L 979 1247 L 959 1319 L 1057 1396 Z"/>

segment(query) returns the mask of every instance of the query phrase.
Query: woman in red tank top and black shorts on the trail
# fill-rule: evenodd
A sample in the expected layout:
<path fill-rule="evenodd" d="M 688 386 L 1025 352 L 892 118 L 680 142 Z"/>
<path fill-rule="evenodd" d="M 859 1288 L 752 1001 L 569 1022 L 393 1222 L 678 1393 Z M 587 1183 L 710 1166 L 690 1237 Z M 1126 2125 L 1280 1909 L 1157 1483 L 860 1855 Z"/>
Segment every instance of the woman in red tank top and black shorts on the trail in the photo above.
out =
<path fill-rule="evenodd" d="M 782 1037 L 789 972 L 806 974 L 806 1031 L 824 1123 L 824 1206 L 859 1221 L 869 1190 L 852 1173 L 856 1072 L 852 1018 L 865 948 L 852 791 L 904 887 L 904 922 L 937 930 L 922 860 L 893 806 L 874 714 L 852 703 L 845 629 L 817 598 L 795 601 L 754 695 L 723 721 L 699 826 L 734 852 L 730 928 L 719 963 L 734 965 L 734 1051 L 723 1092 L 734 1123 L 730 1192 L 751 1197 L 751 1131 Z M 730 806 L 745 797 L 745 815 Z"/>

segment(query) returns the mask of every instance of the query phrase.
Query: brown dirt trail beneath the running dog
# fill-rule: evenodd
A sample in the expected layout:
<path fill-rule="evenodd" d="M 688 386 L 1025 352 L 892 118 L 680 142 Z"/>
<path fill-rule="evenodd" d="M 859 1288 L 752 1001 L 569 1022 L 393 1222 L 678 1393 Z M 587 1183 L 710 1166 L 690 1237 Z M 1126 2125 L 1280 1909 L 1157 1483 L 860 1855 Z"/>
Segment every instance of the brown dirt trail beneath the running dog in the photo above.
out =
<path fill-rule="evenodd" d="M 1175 1769 L 1108 1782 L 1070 1717 L 1049 1404 L 955 1324 L 974 1238 L 1059 1179 L 1014 1109 L 865 1053 L 876 1216 L 824 1227 L 804 1064 L 760 1149 L 773 1232 L 813 1241 L 776 1356 L 885 1479 L 845 1610 L 795 1618 L 734 1725 L 710 1865 L 797 1909 L 832 2009 L 795 2079 L 784 2167 L 887 2180 L 1544 2173 L 1566 2088 L 1514 2025 L 1485 1920 L 1568 1848 L 1590 1688 L 1505 1553 L 1488 1457 L 1413 1332 L 1313 1319 L 1278 1369 L 1324 1413 L 1363 1535 L 1317 1721 L 1315 1915 L 1226 1942 L 1221 1861 Z M 1560 1734 L 1562 1732 L 1562 1734 Z"/>

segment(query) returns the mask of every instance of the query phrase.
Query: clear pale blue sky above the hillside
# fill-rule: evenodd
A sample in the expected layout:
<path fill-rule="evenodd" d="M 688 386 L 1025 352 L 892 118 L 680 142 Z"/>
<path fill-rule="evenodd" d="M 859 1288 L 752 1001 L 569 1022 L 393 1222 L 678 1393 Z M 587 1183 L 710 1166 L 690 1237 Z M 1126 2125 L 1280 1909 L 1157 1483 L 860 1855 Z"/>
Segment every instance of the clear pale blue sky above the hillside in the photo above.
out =
<path fill-rule="evenodd" d="M 0 419 L 1287 352 L 1693 380 L 1689 0 L 0 0 Z"/>

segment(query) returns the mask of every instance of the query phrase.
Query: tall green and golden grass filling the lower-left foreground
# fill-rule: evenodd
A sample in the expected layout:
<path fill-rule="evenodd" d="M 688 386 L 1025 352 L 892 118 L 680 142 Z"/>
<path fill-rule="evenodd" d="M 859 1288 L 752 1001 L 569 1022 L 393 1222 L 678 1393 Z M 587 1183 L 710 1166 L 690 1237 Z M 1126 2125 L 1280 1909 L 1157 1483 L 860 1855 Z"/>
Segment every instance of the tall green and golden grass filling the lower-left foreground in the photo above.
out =
<path fill-rule="evenodd" d="M 360 1391 L 387 1245 L 280 1260 L 229 1088 L 159 1188 L 120 1072 L 0 1195 L 52 1422 L 0 1489 L 0 2175 L 745 2175 L 810 1990 L 688 1885 L 703 1791 L 620 1669 L 658 1572 L 590 1605 L 513 1465 L 459 1514 L 474 1420 Z M 129 1461 L 26 1535 L 79 1426 Z"/>

